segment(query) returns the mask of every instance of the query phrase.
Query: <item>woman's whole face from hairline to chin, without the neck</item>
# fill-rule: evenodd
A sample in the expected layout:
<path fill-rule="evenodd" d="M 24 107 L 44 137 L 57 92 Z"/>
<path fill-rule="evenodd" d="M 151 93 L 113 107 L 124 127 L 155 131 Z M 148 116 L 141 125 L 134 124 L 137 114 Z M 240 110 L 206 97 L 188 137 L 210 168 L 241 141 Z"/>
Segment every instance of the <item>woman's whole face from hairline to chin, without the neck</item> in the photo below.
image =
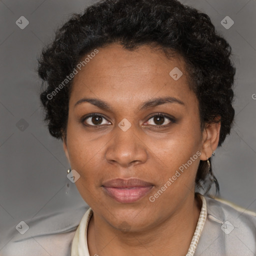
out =
<path fill-rule="evenodd" d="M 112 227 L 156 226 L 194 197 L 207 137 L 189 82 L 182 58 L 119 44 L 73 78 L 64 150 L 82 198 Z"/>

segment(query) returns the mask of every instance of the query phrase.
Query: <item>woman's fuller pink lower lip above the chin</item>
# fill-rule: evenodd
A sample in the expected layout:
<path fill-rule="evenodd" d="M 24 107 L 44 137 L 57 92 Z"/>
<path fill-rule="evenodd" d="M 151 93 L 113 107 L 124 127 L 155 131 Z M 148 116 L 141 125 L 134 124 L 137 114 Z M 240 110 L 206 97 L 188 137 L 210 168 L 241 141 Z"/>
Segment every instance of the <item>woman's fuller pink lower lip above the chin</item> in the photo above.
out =
<path fill-rule="evenodd" d="M 131 203 L 145 196 L 153 186 L 139 186 L 132 188 L 104 187 L 106 193 L 121 203 Z"/>

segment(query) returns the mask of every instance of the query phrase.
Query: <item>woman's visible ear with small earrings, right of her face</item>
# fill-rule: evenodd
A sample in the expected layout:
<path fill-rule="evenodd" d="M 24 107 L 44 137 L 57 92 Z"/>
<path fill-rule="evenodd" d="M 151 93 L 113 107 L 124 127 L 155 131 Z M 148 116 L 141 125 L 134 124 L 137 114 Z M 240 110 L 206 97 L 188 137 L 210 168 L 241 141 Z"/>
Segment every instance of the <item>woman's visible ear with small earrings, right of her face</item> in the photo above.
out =
<path fill-rule="evenodd" d="M 220 117 L 215 123 L 206 123 L 202 133 L 202 149 L 200 160 L 207 160 L 210 158 L 213 151 L 218 146 L 219 131 L 220 131 Z"/>

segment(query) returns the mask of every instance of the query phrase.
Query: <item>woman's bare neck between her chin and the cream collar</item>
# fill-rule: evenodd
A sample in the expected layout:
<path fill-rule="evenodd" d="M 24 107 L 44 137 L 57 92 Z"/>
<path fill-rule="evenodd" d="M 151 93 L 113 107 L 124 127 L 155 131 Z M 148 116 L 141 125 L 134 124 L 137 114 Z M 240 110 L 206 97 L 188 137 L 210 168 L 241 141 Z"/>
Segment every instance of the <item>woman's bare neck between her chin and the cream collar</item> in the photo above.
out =
<path fill-rule="evenodd" d="M 188 198 L 179 210 L 143 232 L 122 232 L 93 213 L 87 229 L 89 254 L 185 255 L 193 237 L 200 209 L 200 198 Z"/>

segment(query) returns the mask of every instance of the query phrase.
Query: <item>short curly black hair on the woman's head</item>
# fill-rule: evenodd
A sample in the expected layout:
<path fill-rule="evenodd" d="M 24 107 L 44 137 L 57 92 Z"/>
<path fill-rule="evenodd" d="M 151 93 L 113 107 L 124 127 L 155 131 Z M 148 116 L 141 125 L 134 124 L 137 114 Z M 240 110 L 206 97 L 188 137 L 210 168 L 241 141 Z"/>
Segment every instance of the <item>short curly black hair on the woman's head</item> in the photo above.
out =
<path fill-rule="evenodd" d="M 199 102 L 201 126 L 220 117 L 221 145 L 234 117 L 231 47 L 208 15 L 177 0 L 101 0 L 83 13 L 72 14 L 56 30 L 53 42 L 43 48 L 38 59 L 38 75 L 43 80 L 40 100 L 52 136 L 65 138 L 72 79 L 54 97 L 49 95 L 85 54 L 113 42 L 127 50 L 152 44 L 165 53 L 169 50 L 182 56 Z M 200 160 L 195 184 L 204 194 L 214 182 L 219 191 L 211 167 L 209 173 L 206 161 Z"/>

